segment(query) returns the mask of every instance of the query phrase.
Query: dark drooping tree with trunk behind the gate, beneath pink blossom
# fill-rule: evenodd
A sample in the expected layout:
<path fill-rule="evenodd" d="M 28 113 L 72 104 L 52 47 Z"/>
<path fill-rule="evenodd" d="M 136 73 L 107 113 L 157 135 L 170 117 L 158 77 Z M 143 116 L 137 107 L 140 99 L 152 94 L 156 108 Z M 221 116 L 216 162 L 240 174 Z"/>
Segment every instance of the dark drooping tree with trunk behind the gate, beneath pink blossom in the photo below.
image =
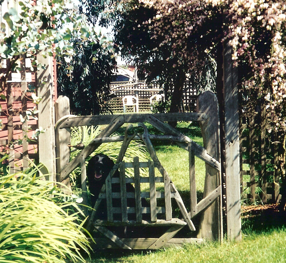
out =
<path fill-rule="evenodd" d="M 128 5 L 115 25 L 114 42 L 124 58 L 134 59 L 138 72 L 145 75 L 147 83 L 156 82 L 164 87 L 165 94 L 170 93 L 170 112 L 178 111 L 187 78 L 199 91 L 215 90 L 216 63 L 213 55 L 202 51 L 200 55 L 204 62 L 198 68 L 190 67 L 188 58 L 174 49 L 174 43 L 164 41 L 164 34 L 154 37 L 150 28 L 156 23 L 153 18 L 157 10 L 137 0 L 125 2 Z M 170 28 L 167 21 L 166 27 Z M 192 47 L 196 41 L 190 39 L 187 44 Z"/>

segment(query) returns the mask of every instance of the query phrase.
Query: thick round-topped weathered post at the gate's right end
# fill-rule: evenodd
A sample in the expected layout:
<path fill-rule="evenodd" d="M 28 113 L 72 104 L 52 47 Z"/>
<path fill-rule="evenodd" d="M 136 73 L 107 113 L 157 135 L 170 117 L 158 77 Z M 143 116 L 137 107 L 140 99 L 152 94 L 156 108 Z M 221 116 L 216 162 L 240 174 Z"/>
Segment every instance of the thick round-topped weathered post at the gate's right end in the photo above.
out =
<path fill-rule="evenodd" d="M 197 112 L 208 115 L 206 121 L 200 122 L 204 148 L 208 154 L 220 162 L 219 105 L 215 94 L 210 91 L 202 93 L 197 99 Z M 221 185 L 221 173 L 206 163 L 203 197 L 206 197 L 219 185 Z M 222 241 L 222 222 L 222 200 L 220 195 L 202 214 L 198 238 Z"/>

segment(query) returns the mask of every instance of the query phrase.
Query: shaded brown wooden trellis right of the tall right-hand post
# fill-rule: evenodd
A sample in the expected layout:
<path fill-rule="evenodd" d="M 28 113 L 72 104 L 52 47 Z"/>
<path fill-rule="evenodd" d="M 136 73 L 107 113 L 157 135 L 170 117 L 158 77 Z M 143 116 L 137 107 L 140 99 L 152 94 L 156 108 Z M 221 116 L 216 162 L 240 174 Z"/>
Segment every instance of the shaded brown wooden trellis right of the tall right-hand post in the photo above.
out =
<path fill-rule="evenodd" d="M 242 199 L 264 204 L 280 201 L 279 174 L 274 168 L 277 150 L 271 141 L 263 111 L 240 118 Z"/>

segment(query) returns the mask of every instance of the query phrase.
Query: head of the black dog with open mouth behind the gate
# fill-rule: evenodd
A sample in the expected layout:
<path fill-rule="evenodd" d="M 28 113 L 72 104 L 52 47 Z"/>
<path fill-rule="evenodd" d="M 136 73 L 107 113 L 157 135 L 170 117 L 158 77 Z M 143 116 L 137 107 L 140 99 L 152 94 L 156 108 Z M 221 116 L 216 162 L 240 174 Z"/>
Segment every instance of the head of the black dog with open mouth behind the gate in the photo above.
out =
<path fill-rule="evenodd" d="M 89 180 L 106 180 L 114 162 L 105 154 L 97 154 L 88 162 L 88 179 Z"/>

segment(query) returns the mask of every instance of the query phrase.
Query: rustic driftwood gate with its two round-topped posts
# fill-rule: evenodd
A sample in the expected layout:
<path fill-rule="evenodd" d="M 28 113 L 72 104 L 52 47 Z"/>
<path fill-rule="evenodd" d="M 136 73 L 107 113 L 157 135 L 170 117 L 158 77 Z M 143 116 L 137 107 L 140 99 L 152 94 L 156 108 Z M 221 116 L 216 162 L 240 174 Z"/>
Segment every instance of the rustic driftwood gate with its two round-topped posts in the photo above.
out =
<path fill-rule="evenodd" d="M 102 198 L 107 204 L 107 220 L 100 221 L 96 219 L 95 213 L 91 215 L 90 225 L 94 225 L 100 232 L 104 234 L 104 242 L 96 239 L 97 247 L 104 244 L 105 247 L 120 247 L 128 249 L 146 249 L 160 248 L 162 246 L 170 246 L 171 244 L 182 244 L 183 242 L 200 242 L 203 239 L 221 240 L 222 239 L 222 205 L 221 205 L 221 164 L 220 164 L 220 146 L 219 146 L 219 119 L 218 119 L 218 103 L 217 98 L 210 92 L 203 93 L 198 98 L 198 113 L 169 113 L 169 114 L 126 114 L 126 115 L 98 115 L 98 116 L 72 116 L 68 112 L 68 99 L 59 97 L 56 107 L 55 137 L 56 137 L 56 155 L 57 155 L 57 181 L 64 182 L 69 186 L 69 174 L 77 167 L 81 167 L 82 172 L 82 190 L 86 190 L 86 164 L 85 159 L 92 154 L 100 144 L 105 142 L 123 141 L 122 149 L 118 156 L 114 169 L 110 172 L 106 179 L 106 184 L 102 188 Z M 193 142 L 187 136 L 179 133 L 172 128 L 166 121 L 199 121 L 202 129 L 204 148 Z M 149 135 L 148 130 L 143 122 L 148 122 L 164 135 Z M 121 127 L 124 123 L 141 123 L 144 127 L 144 134 L 134 134 L 132 138 L 126 136 L 110 135 Z M 84 125 L 108 125 L 102 132 L 86 146 L 71 162 L 69 162 L 70 128 L 74 126 Z M 152 158 L 152 161 L 143 163 L 138 162 L 138 158 L 134 158 L 134 162 L 125 164 L 122 162 L 128 141 L 131 139 L 142 140 Z M 190 178 L 190 211 L 186 211 L 175 185 L 172 183 L 172 176 L 160 164 L 154 148 L 152 147 L 152 139 L 172 140 L 178 146 L 189 152 L 189 174 Z M 197 202 L 194 156 L 202 159 L 206 163 L 206 177 L 204 185 L 203 199 Z M 146 178 L 140 177 L 139 167 L 149 168 L 150 192 L 141 193 L 140 183 L 145 182 Z M 125 178 L 124 169 L 126 167 L 134 168 L 134 178 Z M 154 168 L 158 168 L 161 176 L 154 176 Z M 120 169 L 120 178 L 112 178 L 115 169 Z M 120 180 L 120 193 L 111 192 L 111 184 Z M 126 187 L 125 183 L 134 182 L 135 199 L 136 199 L 136 219 L 128 220 L 128 211 L 130 208 L 126 206 Z M 156 190 L 155 182 L 164 182 L 164 191 Z M 118 183 L 118 182 L 117 182 Z M 116 212 L 116 208 L 112 207 L 112 198 L 121 199 L 121 209 Z M 141 206 L 141 198 L 150 198 L 150 207 Z M 184 219 L 176 219 L 172 217 L 171 198 L 176 203 L 184 217 Z M 157 207 L 156 199 L 164 198 L 164 208 Z M 86 196 L 84 196 L 86 200 Z M 95 208 L 98 206 L 98 201 Z M 134 210 L 134 209 L 133 209 Z M 164 211 L 163 211 L 164 210 Z M 113 213 L 119 213 L 121 219 L 114 220 Z M 164 213 L 164 219 L 158 219 L 157 213 Z M 133 211 L 134 213 L 134 211 Z M 198 238 L 173 238 L 173 236 L 185 225 L 192 231 L 195 227 L 192 219 L 201 214 Z M 148 214 L 150 219 L 142 220 L 142 214 Z M 125 238 L 116 235 L 108 226 L 167 226 L 157 238 Z M 186 230 L 189 231 L 189 230 Z"/>

